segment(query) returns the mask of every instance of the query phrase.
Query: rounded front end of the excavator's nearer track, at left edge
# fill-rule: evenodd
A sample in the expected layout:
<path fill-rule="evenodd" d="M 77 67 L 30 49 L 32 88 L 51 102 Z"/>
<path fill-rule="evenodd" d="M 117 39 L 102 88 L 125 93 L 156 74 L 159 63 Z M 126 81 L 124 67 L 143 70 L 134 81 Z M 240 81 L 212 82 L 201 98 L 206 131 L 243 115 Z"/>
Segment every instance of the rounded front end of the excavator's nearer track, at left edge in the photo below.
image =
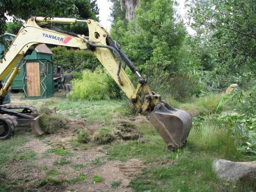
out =
<path fill-rule="evenodd" d="M 17 125 L 14 116 L 0 115 L 0 140 L 7 139 L 17 129 Z"/>

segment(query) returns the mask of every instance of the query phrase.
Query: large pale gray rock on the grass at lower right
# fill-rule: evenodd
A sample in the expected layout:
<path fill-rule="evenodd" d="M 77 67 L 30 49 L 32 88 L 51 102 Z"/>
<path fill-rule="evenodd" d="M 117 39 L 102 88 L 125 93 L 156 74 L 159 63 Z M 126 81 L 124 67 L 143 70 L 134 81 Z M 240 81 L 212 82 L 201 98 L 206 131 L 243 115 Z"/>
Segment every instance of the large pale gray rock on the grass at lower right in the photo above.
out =
<path fill-rule="evenodd" d="M 256 182 L 256 161 L 231 162 L 219 159 L 213 161 L 212 166 L 221 179 L 227 181 L 247 180 Z"/>

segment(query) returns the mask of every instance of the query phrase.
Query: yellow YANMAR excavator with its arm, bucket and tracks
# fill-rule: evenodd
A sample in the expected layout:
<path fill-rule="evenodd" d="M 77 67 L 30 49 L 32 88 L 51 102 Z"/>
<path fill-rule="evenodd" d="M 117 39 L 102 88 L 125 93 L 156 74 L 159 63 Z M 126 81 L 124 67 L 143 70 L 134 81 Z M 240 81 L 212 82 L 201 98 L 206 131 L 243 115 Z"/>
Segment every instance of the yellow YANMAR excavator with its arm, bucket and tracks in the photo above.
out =
<path fill-rule="evenodd" d="M 89 37 L 54 27 L 58 24 L 86 23 Z M 157 129 L 167 143 L 167 151 L 174 152 L 185 146 L 192 125 L 192 117 L 187 111 L 173 109 L 151 91 L 147 78 L 141 76 L 137 68 L 127 58 L 119 45 L 112 40 L 109 33 L 95 20 L 78 20 L 76 18 L 31 17 L 13 40 L 4 58 L 0 61 L 0 139 L 6 139 L 19 124 L 29 122 L 33 134 L 43 134 L 38 125 L 37 110 L 33 106 L 6 106 L 10 97 L 10 86 L 20 71 L 25 56 L 42 43 L 63 45 L 81 50 L 90 49 L 106 68 L 114 81 L 124 91 L 127 98 L 140 114 Z M 20 63 L 15 67 L 15 65 Z M 122 67 L 122 61 L 137 75 L 137 88 L 130 81 Z M 9 74 L 9 76 L 8 76 Z M 142 101 L 142 92 L 144 99 Z M 16 110 L 18 109 L 18 110 Z M 20 112 L 17 112 L 20 111 Z"/>

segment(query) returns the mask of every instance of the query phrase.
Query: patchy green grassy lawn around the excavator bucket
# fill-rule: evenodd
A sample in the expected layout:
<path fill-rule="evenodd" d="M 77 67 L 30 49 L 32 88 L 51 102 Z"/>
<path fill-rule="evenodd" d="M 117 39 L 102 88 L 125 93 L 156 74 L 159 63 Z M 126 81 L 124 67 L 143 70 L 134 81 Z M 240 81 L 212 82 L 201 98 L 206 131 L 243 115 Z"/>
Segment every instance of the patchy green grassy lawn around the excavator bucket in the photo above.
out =
<path fill-rule="evenodd" d="M 18 97 L 24 101 L 22 96 Z M 88 172 L 91 167 L 130 159 L 139 159 L 145 165 L 129 183 L 135 191 L 255 191 L 256 184 L 223 181 L 212 169 L 215 159 L 256 160 L 237 150 L 239 138 L 232 137 L 230 125 L 214 118 L 220 101 L 221 96 L 195 98 L 187 104 L 168 101 L 195 116 L 187 147 L 168 153 L 165 142 L 150 122 L 144 116 L 127 115 L 122 101 L 71 101 L 63 93 L 39 102 L 26 100 L 37 108 L 56 106 L 58 116 L 79 123 L 39 137 L 33 136 L 29 128 L 22 128 L 9 139 L 0 141 L 0 191 L 75 190 L 79 187 L 76 184 L 92 185 L 95 175 L 102 177 Z M 230 110 L 228 106 L 226 110 Z M 203 116 L 203 120 L 198 115 Z M 81 124 L 88 130 L 84 134 Z M 132 136 L 139 133 L 138 144 L 137 137 Z M 86 138 L 81 138 L 83 136 Z M 38 148 L 30 144 L 34 140 L 41 142 Z M 38 152 L 40 147 L 45 150 Z M 87 154 L 96 153 L 99 147 L 103 154 L 89 159 Z M 106 191 L 122 191 L 117 188 L 122 182 L 122 178 L 116 179 Z"/>

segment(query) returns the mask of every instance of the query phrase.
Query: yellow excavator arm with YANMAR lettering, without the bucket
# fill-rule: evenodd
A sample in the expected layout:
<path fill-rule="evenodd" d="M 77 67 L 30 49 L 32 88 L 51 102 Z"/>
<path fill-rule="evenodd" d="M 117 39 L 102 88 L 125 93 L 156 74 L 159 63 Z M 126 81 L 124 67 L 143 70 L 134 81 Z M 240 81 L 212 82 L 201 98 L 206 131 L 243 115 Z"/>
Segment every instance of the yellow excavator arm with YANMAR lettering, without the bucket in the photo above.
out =
<path fill-rule="evenodd" d="M 46 26 L 47 23 L 54 22 L 87 23 L 89 37 L 85 37 L 84 35 L 65 34 L 56 28 L 51 28 L 50 25 Z M 5 54 L 5 59 L 1 61 L 0 81 L 3 81 L 20 58 L 28 54 L 28 52 L 31 53 L 36 45 L 49 43 L 80 49 L 91 48 L 91 51 L 93 51 L 104 68 L 106 68 L 112 78 L 114 78 L 114 81 L 116 81 L 122 91 L 124 91 L 127 97 L 132 101 L 136 109 L 138 109 L 138 112 L 142 114 L 150 113 L 154 109 L 155 104 L 160 102 L 160 97 L 152 95 L 152 91 L 150 90 L 147 81 L 145 81 L 146 79 L 139 75 L 135 67 L 132 68 L 132 70 L 133 72 L 136 72 L 140 80 L 138 88 L 134 88 L 129 77 L 121 67 L 120 54 L 122 53 L 118 53 L 117 50 L 119 48 L 109 46 L 109 40 L 107 40 L 107 38 L 112 40 L 109 33 L 94 20 L 77 20 L 72 18 L 47 18 L 45 20 L 45 18 L 42 17 L 32 17 L 20 29 L 8 52 Z M 115 53 L 116 56 L 113 53 Z M 124 57 L 126 56 L 124 55 Z M 12 83 L 16 74 L 13 73 L 8 82 Z M 140 97 L 142 91 L 144 91 L 146 95 L 144 101 L 141 101 Z M 1 97 L 5 96 L 7 93 L 8 91 L 6 89 L 0 90 Z M 155 99 L 155 97 L 158 99 Z"/>

